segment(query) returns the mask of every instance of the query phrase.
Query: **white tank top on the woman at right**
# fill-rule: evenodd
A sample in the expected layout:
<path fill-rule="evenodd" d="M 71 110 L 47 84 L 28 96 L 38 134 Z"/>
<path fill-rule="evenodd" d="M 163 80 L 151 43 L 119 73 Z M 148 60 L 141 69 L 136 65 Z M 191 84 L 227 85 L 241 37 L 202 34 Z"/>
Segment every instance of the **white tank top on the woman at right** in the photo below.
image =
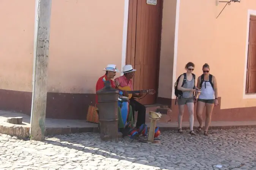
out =
<path fill-rule="evenodd" d="M 215 99 L 215 93 L 209 80 L 208 81 L 204 80 L 200 91 L 201 93 L 199 94 L 198 99 L 204 99 L 204 100 Z"/>

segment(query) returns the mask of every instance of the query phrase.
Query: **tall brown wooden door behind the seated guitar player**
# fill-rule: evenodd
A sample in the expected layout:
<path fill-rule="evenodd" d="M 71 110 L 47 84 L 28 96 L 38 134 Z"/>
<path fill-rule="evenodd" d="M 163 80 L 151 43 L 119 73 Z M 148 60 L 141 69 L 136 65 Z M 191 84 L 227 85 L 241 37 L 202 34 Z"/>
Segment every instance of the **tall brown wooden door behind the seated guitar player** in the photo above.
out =
<path fill-rule="evenodd" d="M 160 60 L 162 0 L 148 5 L 146 0 L 130 0 L 126 63 L 133 65 L 134 90 L 158 88 Z M 154 104 L 156 94 L 147 95 L 139 102 Z"/>

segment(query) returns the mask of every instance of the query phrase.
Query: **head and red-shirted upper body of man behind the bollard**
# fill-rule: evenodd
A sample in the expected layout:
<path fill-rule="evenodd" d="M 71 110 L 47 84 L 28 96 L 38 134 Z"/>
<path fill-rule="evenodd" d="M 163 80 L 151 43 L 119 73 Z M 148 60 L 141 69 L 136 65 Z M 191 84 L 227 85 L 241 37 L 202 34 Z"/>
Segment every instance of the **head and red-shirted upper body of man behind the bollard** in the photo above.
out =
<path fill-rule="evenodd" d="M 103 69 L 103 71 L 106 71 L 104 76 L 101 76 L 97 83 L 96 83 L 96 91 L 101 90 L 104 87 L 104 81 L 109 80 L 111 82 L 111 87 L 115 88 L 115 82 L 112 80 L 115 77 L 115 74 L 119 72 L 117 70 L 117 66 L 114 64 L 109 64 L 106 66 L 106 68 Z M 98 96 L 96 95 L 96 103 L 98 103 Z"/>

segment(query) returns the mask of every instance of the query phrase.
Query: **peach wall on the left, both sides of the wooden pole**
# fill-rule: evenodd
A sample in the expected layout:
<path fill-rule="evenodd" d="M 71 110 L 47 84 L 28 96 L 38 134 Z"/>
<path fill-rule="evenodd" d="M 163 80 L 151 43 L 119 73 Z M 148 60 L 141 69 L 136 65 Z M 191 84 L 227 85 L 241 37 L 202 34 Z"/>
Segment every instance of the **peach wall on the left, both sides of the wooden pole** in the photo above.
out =
<path fill-rule="evenodd" d="M 108 63 L 120 69 L 123 14 L 120 0 L 52 1 L 49 92 L 95 93 Z M 32 91 L 35 0 L 2 0 L 0 16 L 0 88 Z"/>

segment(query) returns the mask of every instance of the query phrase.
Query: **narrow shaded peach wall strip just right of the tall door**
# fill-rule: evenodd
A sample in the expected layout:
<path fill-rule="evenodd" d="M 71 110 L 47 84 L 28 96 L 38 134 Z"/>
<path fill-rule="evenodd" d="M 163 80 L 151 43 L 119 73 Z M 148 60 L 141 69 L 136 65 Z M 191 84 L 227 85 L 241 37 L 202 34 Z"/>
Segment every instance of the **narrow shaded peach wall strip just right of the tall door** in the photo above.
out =
<path fill-rule="evenodd" d="M 173 74 L 176 2 L 176 0 L 163 1 L 158 97 L 169 99 L 172 97 L 172 77 L 170 75 Z"/>

